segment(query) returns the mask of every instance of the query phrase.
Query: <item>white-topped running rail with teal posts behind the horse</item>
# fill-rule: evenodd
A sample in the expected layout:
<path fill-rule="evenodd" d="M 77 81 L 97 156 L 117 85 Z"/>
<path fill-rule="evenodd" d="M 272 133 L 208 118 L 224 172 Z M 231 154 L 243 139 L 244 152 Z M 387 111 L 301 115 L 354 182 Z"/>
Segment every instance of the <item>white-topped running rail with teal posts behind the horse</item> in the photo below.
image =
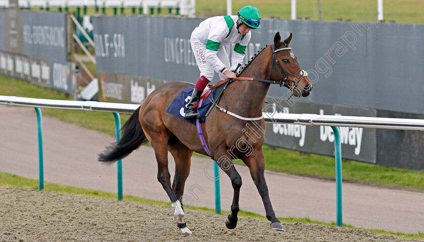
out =
<path fill-rule="evenodd" d="M 115 116 L 115 130 L 117 141 L 120 139 L 119 129 L 121 127 L 118 113 L 133 113 L 138 104 L 101 103 L 92 101 L 64 101 L 35 98 L 20 98 L 13 96 L 0 96 L 0 104 L 11 106 L 34 107 L 37 110 L 38 123 L 38 145 L 39 145 L 39 189 L 43 189 L 43 153 L 42 153 L 42 126 L 40 108 L 68 109 L 112 112 Z M 317 114 L 283 114 L 283 113 L 263 113 L 265 122 L 300 124 L 308 126 L 331 126 L 334 131 L 335 158 L 336 158 L 336 204 L 337 204 L 337 226 L 343 225 L 342 213 L 342 154 L 340 142 L 340 127 L 361 127 L 379 129 L 398 130 L 418 130 L 424 131 L 424 120 L 420 119 L 399 119 L 399 118 L 375 118 L 356 116 L 332 116 Z M 218 173 L 218 165 L 215 163 L 214 172 Z M 215 174 L 217 176 L 217 174 Z M 219 176 L 217 176 L 219 177 Z M 216 211 L 221 211 L 221 195 L 219 180 L 215 183 Z M 122 161 L 118 161 L 118 200 L 122 199 Z"/>

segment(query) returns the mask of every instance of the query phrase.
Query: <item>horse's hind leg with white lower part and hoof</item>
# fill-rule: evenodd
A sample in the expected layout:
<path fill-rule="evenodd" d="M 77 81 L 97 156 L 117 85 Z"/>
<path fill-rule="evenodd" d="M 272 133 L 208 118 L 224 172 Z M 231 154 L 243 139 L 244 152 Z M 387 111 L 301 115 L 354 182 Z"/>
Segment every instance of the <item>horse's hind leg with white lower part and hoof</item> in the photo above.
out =
<path fill-rule="evenodd" d="M 157 161 L 157 180 L 162 184 L 162 187 L 167 192 L 171 199 L 172 207 L 175 209 L 177 217 L 177 226 L 181 229 L 184 235 L 191 235 L 190 229 L 184 220 L 184 211 L 171 187 L 171 175 L 168 170 L 168 141 L 171 132 L 164 126 L 156 126 L 154 133 L 151 135 L 150 143 L 153 146 L 154 154 Z"/>

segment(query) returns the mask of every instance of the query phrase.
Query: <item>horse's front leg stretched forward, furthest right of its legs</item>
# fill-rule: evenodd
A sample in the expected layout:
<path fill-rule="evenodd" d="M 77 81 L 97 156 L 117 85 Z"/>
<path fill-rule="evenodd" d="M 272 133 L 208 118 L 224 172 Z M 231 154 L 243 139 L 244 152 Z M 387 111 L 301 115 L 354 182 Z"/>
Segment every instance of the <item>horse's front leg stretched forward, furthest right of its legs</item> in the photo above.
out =
<path fill-rule="evenodd" d="M 284 230 L 283 224 L 281 224 L 280 220 L 278 220 L 275 216 L 273 206 L 271 205 L 268 186 L 264 176 L 265 158 L 263 156 L 262 148 L 255 149 L 250 155 L 244 156 L 241 159 L 250 170 L 250 175 L 252 176 L 253 182 L 255 183 L 260 197 L 262 198 L 267 218 L 271 221 L 271 228 Z"/>

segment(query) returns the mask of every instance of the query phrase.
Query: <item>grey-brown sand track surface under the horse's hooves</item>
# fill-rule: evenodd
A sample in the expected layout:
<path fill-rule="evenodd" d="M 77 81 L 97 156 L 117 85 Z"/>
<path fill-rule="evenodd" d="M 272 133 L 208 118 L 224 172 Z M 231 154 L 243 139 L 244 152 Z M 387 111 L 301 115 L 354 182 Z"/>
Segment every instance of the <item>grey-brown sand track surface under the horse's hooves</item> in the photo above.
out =
<path fill-rule="evenodd" d="M 38 190 L 0 187 L 0 241 L 422 241 L 366 230 L 239 218 L 235 229 L 225 215 L 186 209 L 192 236 L 182 236 L 173 209 Z"/>

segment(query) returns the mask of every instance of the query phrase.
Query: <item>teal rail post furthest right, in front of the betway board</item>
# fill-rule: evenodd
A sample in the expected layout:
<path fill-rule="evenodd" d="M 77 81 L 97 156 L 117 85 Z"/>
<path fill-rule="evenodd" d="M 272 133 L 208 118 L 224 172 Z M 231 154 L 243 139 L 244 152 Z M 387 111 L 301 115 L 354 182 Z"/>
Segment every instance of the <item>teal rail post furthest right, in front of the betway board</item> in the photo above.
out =
<path fill-rule="evenodd" d="M 343 226 L 342 211 L 342 145 L 340 143 L 340 132 L 338 127 L 331 126 L 334 132 L 334 149 L 336 158 L 336 204 L 337 204 L 337 226 Z"/>

